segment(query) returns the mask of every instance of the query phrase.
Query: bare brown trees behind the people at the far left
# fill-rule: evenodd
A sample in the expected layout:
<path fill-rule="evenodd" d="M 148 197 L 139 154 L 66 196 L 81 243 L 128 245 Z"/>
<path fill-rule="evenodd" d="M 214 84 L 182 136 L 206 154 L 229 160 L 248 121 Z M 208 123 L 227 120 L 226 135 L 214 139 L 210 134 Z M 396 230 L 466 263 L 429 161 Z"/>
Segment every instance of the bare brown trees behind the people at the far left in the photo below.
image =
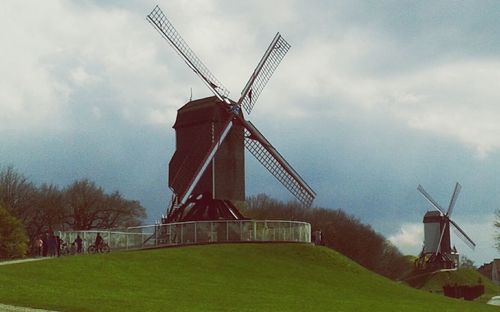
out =
<path fill-rule="evenodd" d="M 146 218 L 138 201 L 127 200 L 118 191 L 106 193 L 88 179 L 63 188 L 36 185 L 13 167 L 0 171 L 0 212 L 11 226 L 16 223 L 11 218 L 19 221 L 29 245 L 49 231 L 125 228 L 140 225 Z"/>

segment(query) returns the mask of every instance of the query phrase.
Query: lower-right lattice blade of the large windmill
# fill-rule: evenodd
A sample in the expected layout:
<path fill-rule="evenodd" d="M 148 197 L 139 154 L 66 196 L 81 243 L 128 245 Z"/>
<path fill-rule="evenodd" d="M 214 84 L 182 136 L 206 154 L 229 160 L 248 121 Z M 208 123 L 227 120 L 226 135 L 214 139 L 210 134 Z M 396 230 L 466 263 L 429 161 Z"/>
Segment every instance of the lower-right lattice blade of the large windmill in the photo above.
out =
<path fill-rule="evenodd" d="M 249 121 L 245 125 L 245 147 L 305 207 L 310 207 L 316 193 L 288 164 L 278 151 Z"/>

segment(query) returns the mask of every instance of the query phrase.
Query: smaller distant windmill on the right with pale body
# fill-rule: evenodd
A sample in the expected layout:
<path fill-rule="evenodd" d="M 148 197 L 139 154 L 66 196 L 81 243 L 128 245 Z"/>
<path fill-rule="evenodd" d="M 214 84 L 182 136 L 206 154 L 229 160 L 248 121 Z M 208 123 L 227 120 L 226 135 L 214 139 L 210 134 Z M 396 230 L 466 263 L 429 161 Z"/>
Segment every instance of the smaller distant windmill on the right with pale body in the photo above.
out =
<path fill-rule="evenodd" d="M 421 185 L 418 186 L 417 190 L 436 209 L 435 211 L 427 211 L 424 216 L 424 247 L 417 262 L 419 269 L 441 270 L 457 268 L 458 253 L 455 247 L 451 247 L 450 225 L 453 226 L 455 233 L 466 245 L 471 249 L 476 247 L 472 239 L 455 221 L 451 220 L 451 214 L 461 188 L 461 185 L 457 182 L 451 196 L 450 204 L 448 205 L 448 210 L 445 213 L 443 207 Z"/>

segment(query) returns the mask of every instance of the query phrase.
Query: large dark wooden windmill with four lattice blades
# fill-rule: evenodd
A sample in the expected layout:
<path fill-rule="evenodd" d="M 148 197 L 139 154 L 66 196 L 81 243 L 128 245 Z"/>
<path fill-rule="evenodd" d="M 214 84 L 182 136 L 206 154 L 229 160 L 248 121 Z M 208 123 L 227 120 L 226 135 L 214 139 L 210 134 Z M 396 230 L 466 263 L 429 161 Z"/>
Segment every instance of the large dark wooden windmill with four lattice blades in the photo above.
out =
<path fill-rule="evenodd" d="M 158 6 L 147 19 L 214 94 L 178 110 L 176 150 L 169 163 L 173 198 L 163 222 L 244 219 L 235 205 L 245 200 L 244 148 L 304 206 L 310 206 L 315 192 L 242 111 L 250 114 L 290 49 L 288 42 L 276 34 L 240 98 L 233 101 Z"/>

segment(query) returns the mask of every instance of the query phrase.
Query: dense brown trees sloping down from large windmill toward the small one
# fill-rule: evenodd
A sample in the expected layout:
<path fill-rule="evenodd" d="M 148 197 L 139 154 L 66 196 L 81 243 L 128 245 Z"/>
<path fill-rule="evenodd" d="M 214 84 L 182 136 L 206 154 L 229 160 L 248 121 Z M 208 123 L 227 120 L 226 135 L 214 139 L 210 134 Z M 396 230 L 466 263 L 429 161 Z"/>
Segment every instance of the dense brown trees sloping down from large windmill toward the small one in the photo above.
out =
<path fill-rule="evenodd" d="M 259 194 L 247 198 L 243 214 L 255 219 L 308 222 L 312 231 L 321 231 L 323 245 L 391 279 L 403 277 L 412 268 L 384 236 L 340 209 L 304 208 L 298 202 L 285 203 Z"/>

